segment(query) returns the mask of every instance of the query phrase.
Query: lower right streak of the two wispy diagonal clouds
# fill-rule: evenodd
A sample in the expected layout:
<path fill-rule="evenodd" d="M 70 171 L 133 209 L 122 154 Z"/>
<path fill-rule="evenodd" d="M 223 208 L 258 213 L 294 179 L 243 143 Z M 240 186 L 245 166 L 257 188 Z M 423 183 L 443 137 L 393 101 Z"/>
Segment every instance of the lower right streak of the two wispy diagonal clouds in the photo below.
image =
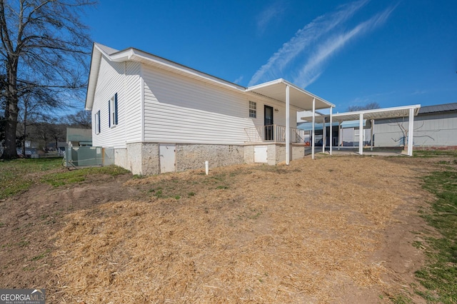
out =
<path fill-rule="evenodd" d="M 343 46 L 345 46 L 351 39 L 361 36 L 362 34 L 372 31 L 373 29 L 376 29 L 376 27 L 384 24 L 393 9 L 394 8 L 389 8 L 379 14 L 376 14 L 371 17 L 371 19 L 358 24 L 350 31 L 328 37 L 326 41 L 317 47 L 316 53 L 310 56 L 306 64 L 298 73 L 298 76 L 293 79 L 293 82 L 302 87 L 306 87 L 313 83 L 316 78 L 322 74 L 323 64 L 325 64 L 326 59 L 335 54 L 336 51 L 342 49 Z"/>

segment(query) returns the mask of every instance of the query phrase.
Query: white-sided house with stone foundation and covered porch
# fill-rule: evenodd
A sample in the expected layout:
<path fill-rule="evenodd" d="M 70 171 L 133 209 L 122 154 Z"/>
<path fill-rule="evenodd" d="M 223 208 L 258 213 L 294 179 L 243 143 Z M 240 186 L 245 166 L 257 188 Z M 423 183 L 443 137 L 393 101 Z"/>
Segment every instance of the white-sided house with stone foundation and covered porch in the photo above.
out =
<path fill-rule="evenodd" d="M 245 88 L 134 48 L 92 50 L 93 146 L 134 174 L 288 163 L 304 156 L 297 111 L 333 106 L 283 79 Z"/>

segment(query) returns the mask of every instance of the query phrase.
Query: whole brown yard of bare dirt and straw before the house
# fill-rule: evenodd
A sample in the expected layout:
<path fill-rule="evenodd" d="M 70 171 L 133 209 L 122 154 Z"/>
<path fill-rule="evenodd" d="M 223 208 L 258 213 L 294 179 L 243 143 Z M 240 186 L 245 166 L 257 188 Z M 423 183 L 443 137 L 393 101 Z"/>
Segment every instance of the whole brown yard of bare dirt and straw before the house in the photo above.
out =
<path fill-rule="evenodd" d="M 422 303 L 436 158 L 319 156 L 40 184 L 0 202 L 0 287 L 47 303 Z"/>

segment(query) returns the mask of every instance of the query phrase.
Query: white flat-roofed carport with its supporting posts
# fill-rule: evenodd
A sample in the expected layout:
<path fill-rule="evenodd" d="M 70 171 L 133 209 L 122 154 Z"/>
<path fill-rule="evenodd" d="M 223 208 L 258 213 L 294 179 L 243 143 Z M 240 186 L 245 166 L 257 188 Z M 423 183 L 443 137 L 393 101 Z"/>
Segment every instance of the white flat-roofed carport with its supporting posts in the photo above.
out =
<path fill-rule="evenodd" d="M 359 130 L 363 130 L 363 120 L 371 120 L 371 139 L 373 138 L 373 126 L 374 121 L 376 119 L 382 118 L 398 118 L 398 117 L 408 117 L 409 124 L 408 124 L 408 156 L 413 156 L 413 133 L 414 133 L 414 116 L 418 114 L 421 105 L 416 104 L 413 106 L 397 106 L 393 108 L 376 108 L 372 110 L 363 110 L 363 111 L 353 111 L 353 112 L 346 112 L 346 113 L 336 113 L 332 115 L 321 115 L 316 116 L 315 111 L 313 111 L 312 116 L 305 116 L 301 117 L 303 121 L 312 121 L 313 122 L 313 142 L 314 142 L 314 123 L 316 123 L 316 118 L 321 120 L 324 124 L 328 120 L 330 122 L 330 126 L 332 125 L 333 121 L 338 122 L 338 143 L 340 143 L 340 136 L 341 136 L 341 123 L 343 121 L 358 121 Z M 324 128 L 325 130 L 325 128 Z M 330 128 L 330 138 L 332 137 Z M 325 135 L 324 135 L 325 138 Z M 411 144 L 410 144 L 411 143 Z M 339 147 L 339 145 L 338 145 Z M 373 148 L 373 141 L 371 140 L 371 147 Z M 330 141 L 330 154 L 332 153 L 332 141 Z M 323 149 L 325 149 L 325 141 L 323 141 Z M 358 153 L 363 155 L 363 136 L 358 136 Z M 312 158 L 314 158 L 314 144 L 312 145 Z"/>

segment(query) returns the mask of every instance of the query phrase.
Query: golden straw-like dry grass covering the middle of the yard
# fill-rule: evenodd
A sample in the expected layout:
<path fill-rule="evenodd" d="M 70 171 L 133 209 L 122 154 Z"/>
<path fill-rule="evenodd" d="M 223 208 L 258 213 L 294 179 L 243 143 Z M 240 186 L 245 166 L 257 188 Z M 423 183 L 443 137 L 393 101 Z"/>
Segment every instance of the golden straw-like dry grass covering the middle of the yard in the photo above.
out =
<path fill-rule="evenodd" d="M 54 298 L 304 303 L 332 300 L 342 282 L 382 288 L 386 268 L 370 258 L 417 188 L 416 172 L 388 162 L 306 158 L 129 181 L 150 187 L 145 199 L 67 217 Z"/>

